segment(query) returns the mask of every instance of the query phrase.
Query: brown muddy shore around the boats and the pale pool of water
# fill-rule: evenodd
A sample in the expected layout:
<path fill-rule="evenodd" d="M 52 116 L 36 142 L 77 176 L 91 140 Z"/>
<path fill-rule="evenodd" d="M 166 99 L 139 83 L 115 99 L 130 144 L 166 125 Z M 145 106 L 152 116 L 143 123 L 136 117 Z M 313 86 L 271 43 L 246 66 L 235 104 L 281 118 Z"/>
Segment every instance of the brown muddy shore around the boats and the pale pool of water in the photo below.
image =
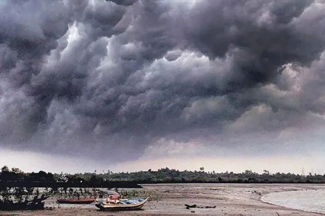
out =
<path fill-rule="evenodd" d="M 325 185 L 308 184 L 158 184 L 142 185 L 150 196 L 142 210 L 109 212 L 99 211 L 94 204 L 72 207 L 58 206 L 55 199 L 48 200 L 46 206 L 54 210 L 0 211 L 0 215 L 321 215 L 302 210 L 276 206 L 261 201 L 268 193 L 318 189 Z M 132 189 L 131 189 L 132 190 Z M 215 208 L 190 208 L 216 206 Z M 58 208 L 59 207 L 59 208 Z"/>

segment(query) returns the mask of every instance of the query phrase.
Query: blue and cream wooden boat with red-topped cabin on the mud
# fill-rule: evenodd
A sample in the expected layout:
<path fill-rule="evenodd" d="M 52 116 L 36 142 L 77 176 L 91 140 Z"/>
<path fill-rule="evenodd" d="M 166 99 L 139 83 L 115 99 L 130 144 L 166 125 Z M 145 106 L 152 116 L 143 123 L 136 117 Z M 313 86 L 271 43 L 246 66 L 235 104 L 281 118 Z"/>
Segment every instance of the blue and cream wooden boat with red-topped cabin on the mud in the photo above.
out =
<path fill-rule="evenodd" d="M 101 210 L 139 210 L 147 202 L 148 197 L 135 199 L 120 199 L 119 195 L 96 199 L 95 206 Z"/>

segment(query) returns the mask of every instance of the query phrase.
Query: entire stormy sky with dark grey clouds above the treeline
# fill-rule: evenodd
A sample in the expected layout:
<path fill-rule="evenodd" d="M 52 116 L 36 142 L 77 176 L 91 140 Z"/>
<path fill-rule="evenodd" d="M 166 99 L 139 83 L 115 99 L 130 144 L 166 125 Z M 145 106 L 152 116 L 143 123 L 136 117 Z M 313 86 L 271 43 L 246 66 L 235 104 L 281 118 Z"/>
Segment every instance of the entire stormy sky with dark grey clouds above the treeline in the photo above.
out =
<path fill-rule="evenodd" d="M 0 12 L 1 166 L 325 173 L 323 1 Z"/>

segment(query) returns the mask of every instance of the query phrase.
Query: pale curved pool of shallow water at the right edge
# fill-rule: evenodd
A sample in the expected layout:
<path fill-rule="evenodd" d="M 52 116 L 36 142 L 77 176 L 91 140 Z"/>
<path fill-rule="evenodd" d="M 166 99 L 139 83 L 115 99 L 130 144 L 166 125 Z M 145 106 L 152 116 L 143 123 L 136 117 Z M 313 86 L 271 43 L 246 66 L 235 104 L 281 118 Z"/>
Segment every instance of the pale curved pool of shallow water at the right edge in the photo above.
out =
<path fill-rule="evenodd" d="M 325 190 L 301 190 L 270 193 L 262 201 L 316 213 L 325 213 Z"/>

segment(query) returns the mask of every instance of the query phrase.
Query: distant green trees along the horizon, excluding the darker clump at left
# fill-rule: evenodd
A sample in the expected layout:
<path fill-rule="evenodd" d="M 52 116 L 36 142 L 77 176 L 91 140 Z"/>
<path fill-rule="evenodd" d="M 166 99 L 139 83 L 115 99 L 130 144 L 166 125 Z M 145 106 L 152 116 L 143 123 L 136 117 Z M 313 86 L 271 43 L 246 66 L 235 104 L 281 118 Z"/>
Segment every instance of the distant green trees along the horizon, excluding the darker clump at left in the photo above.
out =
<path fill-rule="evenodd" d="M 251 170 L 245 170 L 241 173 L 221 172 L 216 173 L 204 171 L 204 167 L 200 167 L 200 171 L 179 171 L 176 169 L 161 168 L 157 171 L 151 169 L 147 171 L 137 172 L 107 172 L 105 174 L 97 174 L 98 178 L 107 181 L 133 181 L 138 184 L 151 183 L 325 183 L 325 175 L 308 176 L 296 175 L 291 173 L 270 174 L 268 170 L 264 170 L 263 174 L 258 174 Z M 76 174 L 71 177 L 88 178 L 89 174 Z"/>

